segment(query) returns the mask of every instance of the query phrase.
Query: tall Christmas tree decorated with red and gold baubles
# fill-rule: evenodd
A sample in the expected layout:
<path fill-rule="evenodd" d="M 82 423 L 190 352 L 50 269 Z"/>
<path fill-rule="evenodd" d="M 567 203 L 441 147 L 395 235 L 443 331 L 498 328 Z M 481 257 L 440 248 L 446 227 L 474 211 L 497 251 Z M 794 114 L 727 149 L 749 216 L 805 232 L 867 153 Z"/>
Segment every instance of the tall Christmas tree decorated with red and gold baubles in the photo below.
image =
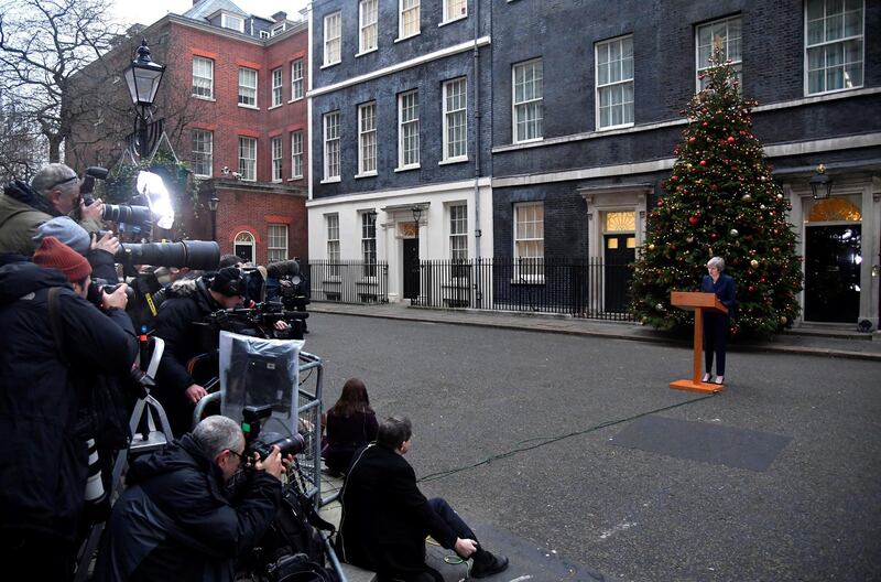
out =
<path fill-rule="evenodd" d="M 737 282 L 733 336 L 766 336 L 792 325 L 802 289 L 791 208 L 771 177 L 737 77 L 716 50 L 707 85 L 689 103 L 664 194 L 649 213 L 634 265 L 631 312 L 664 330 L 690 328 L 693 314 L 670 304 L 671 291 L 697 291 L 711 257 Z"/>

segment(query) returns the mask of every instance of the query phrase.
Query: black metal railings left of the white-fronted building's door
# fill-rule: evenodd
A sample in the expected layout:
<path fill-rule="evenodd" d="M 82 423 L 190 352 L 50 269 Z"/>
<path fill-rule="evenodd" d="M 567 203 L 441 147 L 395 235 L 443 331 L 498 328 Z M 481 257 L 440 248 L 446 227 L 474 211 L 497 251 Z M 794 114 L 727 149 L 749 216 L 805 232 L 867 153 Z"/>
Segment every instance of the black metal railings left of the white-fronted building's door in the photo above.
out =
<path fill-rule="evenodd" d="M 389 263 L 384 261 L 303 261 L 313 301 L 388 303 Z"/>

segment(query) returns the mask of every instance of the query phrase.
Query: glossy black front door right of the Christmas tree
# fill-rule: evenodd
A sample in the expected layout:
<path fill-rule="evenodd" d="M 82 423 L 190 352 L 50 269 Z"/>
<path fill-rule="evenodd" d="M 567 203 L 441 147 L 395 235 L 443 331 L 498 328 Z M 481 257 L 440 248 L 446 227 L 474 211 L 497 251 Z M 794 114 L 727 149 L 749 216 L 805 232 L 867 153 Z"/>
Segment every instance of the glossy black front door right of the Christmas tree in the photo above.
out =
<path fill-rule="evenodd" d="M 805 321 L 853 323 L 860 314 L 861 227 L 808 226 Z"/>

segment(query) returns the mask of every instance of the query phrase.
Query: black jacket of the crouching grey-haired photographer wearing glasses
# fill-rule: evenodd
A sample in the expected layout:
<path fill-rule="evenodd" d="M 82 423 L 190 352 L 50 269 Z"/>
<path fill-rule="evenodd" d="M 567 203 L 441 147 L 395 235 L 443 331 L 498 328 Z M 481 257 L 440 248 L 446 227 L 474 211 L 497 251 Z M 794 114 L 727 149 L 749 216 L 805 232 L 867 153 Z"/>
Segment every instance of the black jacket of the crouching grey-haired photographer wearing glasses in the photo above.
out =
<path fill-rule="evenodd" d="M 189 434 L 137 461 L 113 506 L 95 581 L 226 581 L 281 503 L 281 482 L 262 471 L 230 504 L 220 468 Z"/>

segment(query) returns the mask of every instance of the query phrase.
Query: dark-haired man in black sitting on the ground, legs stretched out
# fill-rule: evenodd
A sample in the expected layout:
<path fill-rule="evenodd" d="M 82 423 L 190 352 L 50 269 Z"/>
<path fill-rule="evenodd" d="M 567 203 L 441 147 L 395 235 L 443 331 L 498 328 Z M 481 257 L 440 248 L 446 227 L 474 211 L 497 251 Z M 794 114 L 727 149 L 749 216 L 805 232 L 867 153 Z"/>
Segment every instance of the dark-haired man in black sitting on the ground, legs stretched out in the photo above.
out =
<path fill-rule="evenodd" d="M 413 429 L 410 419 L 392 417 L 379 425 L 377 442 L 355 453 L 339 499 L 342 516 L 337 553 L 342 561 L 373 570 L 380 582 L 443 582 L 425 563 L 425 537 L 463 559 L 472 559 L 471 578 L 508 568 L 477 541 L 474 531 L 440 498 L 426 499 L 404 460 Z"/>

